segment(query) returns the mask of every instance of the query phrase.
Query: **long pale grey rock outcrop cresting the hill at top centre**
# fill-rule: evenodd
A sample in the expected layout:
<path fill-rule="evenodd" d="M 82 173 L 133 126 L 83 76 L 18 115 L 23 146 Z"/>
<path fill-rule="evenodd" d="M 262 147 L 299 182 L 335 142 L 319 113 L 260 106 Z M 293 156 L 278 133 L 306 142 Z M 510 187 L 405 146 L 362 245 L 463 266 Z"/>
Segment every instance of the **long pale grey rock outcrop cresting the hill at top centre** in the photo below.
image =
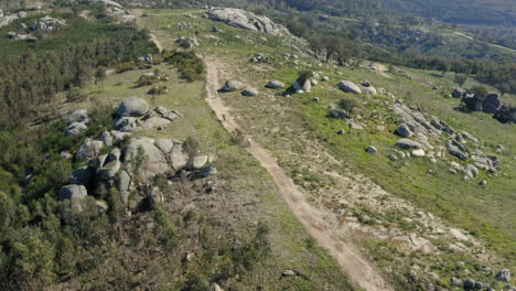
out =
<path fill-rule="evenodd" d="M 270 35 L 290 35 L 289 31 L 272 22 L 266 17 L 258 17 L 255 13 L 234 8 L 212 8 L 207 11 L 209 19 L 224 22 L 228 25 L 265 32 Z"/>

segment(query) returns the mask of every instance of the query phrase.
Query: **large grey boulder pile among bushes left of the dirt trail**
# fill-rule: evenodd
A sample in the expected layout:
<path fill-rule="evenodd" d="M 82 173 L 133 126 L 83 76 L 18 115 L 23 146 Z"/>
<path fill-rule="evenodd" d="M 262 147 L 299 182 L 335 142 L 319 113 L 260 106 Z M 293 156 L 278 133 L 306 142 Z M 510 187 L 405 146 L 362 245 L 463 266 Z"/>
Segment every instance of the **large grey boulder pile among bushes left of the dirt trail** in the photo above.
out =
<path fill-rule="evenodd" d="M 136 122 L 135 127 L 125 125 L 122 129 L 127 127 L 130 129 L 128 131 L 105 131 L 97 139 L 86 139 L 76 152 L 75 160 L 87 165 L 73 171 L 68 185 L 60 191 L 60 200 L 69 200 L 74 206 L 80 205 L 82 200 L 92 195 L 98 200 L 97 206 L 103 208 L 101 206 L 106 205 L 103 200 L 110 191 L 116 190 L 126 206 L 138 207 L 146 198 L 151 203 L 163 201 L 163 195 L 157 187 L 143 192 L 139 190 L 141 185 L 149 185 L 155 176 L 185 177 L 193 173 L 204 177 L 214 175 L 216 169 L 212 165 L 212 157 L 197 154 L 196 151 L 187 152 L 181 141 L 130 137 L 129 132 L 136 130 L 137 125 L 146 128 L 149 122 L 154 123 L 149 121 L 153 120 L 152 118 L 165 119 L 153 115 L 165 117 L 173 115 L 171 119 L 179 118 L 179 115 L 173 112 L 175 111 L 163 107 L 150 110 L 148 104 L 137 97 L 121 103 L 116 111 L 118 117 L 115 119 L 115 125 L 126 118 L 144 118 L 144 116 L 149 118 L 147 121 Z M 88 110 L 74 111 L 67 120 L 69 125 L 67 134 L 72 134 L 71 131 L 79 130 L 83 126 L 87 127 L 88 122 Z"/>

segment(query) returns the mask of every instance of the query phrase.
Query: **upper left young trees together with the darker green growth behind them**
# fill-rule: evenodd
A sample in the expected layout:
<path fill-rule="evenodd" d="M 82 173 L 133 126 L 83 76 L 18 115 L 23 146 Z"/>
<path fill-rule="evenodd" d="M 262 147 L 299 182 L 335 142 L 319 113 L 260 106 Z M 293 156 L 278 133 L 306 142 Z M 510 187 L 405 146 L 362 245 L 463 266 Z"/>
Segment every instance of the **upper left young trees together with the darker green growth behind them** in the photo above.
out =
<path fill-rule="evenodd" d="M 35 44 L 6 44 L 0 53 L 0 128 L 34 117 L 39 105 L 52 101 L 56 93 L 80 87 L 96 68 L 157 52 L 144 31 L 69 17 L 63 32 Z"/>

